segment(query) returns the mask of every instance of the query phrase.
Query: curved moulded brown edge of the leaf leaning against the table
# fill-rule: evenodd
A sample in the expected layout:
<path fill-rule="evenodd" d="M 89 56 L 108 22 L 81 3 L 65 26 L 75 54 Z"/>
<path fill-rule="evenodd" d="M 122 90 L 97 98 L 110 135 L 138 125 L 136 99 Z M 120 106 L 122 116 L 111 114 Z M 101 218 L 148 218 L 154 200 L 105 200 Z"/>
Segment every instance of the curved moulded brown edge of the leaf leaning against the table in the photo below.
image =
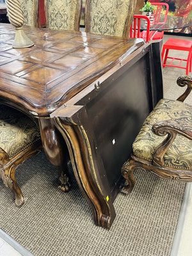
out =
<path fill-rule="evenodd" d="M 95 224 L 110 228 L 115 219 L 115 209 L 105 190 L 107 184 L 105 183 L 103 188 L 101 180 L 96 177 L 86 131 L 83 126 L 68 125 L 60 118 L 55 118 L 54 121 L 68 144 L 77 184 L 92 207 Z M 103 180 L 105 178 L 103 177 Z"/>

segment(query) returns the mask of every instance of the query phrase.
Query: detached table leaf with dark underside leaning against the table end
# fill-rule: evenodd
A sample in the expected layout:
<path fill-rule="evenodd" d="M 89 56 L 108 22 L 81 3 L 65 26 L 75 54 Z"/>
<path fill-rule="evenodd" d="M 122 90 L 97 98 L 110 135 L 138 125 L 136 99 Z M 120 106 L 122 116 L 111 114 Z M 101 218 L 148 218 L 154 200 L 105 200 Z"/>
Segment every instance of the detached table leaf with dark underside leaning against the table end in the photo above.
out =
<path fill-rule="evenodd" d="M 115 219 L 121 166 L 163 95 L 160 56 L 159 43 L 144 45 L 51 114 L 67 141 L 95 223 L 102 227 L 111 227 Z"/>

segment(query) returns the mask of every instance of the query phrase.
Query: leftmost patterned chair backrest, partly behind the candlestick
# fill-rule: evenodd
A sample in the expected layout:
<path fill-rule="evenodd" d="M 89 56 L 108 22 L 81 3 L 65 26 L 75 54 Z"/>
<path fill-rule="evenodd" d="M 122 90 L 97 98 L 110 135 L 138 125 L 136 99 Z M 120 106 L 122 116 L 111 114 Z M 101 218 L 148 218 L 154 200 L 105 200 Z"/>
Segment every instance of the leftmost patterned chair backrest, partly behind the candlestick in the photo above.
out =
<path fill-rule="evenodd" d="M 24 15 L 24 25 L 38 27 L 38 0 L 20 0 L 20 7 Z"/>

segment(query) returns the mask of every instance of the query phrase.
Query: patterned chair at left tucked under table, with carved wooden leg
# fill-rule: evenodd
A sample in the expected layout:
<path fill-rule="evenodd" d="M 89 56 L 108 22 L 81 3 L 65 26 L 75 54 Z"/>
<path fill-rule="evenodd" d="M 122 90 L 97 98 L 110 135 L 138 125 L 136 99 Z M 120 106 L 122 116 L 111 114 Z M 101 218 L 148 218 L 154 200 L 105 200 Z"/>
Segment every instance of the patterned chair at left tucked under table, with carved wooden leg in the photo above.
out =
<path fill-rule="evenodd" d="M 18 206 L 24 204 L 24 197 L 15 179 L 15 169 L 41 149 L 36 123 L 20 111 L 0 105 L 0 173 L 4 184 L 15 194 Z"/>

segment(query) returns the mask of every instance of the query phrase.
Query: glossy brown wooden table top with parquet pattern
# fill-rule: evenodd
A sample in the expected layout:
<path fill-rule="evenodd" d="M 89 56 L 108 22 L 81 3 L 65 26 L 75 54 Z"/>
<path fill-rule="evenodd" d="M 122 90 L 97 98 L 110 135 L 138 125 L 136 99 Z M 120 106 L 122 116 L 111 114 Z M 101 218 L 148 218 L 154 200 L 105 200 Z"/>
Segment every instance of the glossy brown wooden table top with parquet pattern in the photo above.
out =
<path fill-rule="evenodd" d="M 13 49 L 15 28 L 0 24 L 0 98 L 4 104 L 49 116 L 132 51 L 141 39 L 24 27 L 35 42 Z"/>

